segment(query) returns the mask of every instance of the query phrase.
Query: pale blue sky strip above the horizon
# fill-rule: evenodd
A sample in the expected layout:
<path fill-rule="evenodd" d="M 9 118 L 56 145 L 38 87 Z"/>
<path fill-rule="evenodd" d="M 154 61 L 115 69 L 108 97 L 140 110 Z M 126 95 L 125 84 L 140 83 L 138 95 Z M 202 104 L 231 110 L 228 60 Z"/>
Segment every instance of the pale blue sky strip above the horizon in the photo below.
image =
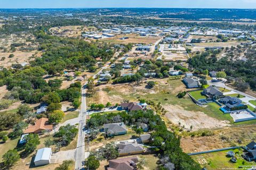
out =
<path fill-rule="evenodd" d="M 256 8 L 256 0 L 0 0 L 0 8 Z"/>

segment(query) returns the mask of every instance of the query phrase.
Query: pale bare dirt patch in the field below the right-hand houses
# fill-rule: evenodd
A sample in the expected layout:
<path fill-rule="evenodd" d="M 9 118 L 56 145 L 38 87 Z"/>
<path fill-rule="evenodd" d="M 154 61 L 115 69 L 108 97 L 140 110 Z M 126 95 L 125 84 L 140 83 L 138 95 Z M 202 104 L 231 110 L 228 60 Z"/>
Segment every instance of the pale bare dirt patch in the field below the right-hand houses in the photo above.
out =
<path fill-rule="evenodd" d="M 174 124 L 181 124 L 185 128 L 190 129 L 193 126 L 193 131 L 198 129 L 212 129 L 230 126 L 224 121 L 219 121 L 212 118 L 203 112 L 186 111 L 184 108 L 177 105 L 164 105 L 166 109 L 166 117 Z"/>

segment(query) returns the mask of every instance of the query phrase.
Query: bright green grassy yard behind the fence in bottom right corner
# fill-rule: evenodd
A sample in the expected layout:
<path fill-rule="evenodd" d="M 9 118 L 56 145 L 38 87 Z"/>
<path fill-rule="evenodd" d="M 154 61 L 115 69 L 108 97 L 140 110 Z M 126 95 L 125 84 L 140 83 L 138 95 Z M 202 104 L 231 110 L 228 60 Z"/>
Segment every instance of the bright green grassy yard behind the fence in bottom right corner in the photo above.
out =
<path fill-rule="evenodd" d="M 215 169 L 238 169 L 239 166 L 255 166 L 255 162 L 246 162 L 242 158 L 243 151 L 239 149 L 234 149 L 232 151 L 235 152 L 235 157 L 237 158 L 237 162 L 233 163 L 230 161 L 231 158 L 227 157 L 226 152 L 230 150 L 225 151 L 219 151 L 219 152 L 212 152 L 209 154 L 201 154 L 201 155 L 195 155 L 191 156 L 194 160 L 201 163 L 202 167 L 206 167 L 209 170 L 215 170 Z M 205 164 L 203 164 L 203 162 Z M 250 167 L 246 167 L 248 169 Z"/>

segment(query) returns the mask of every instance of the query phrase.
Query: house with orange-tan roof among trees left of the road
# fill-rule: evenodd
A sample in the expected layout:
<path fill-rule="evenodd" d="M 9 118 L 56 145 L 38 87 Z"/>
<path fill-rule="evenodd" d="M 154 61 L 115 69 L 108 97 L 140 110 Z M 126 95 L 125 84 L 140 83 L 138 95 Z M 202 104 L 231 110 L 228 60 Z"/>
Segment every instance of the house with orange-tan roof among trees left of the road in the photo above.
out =
<path fill-rule="evenodd" d="M 44 130 L 52 131 L 53 125 L 50 125 L 47 122 L 48 118 L 39 118 L 36 120 L 35 125 L 28 126 L 24 133 L 42 133 Z"/>

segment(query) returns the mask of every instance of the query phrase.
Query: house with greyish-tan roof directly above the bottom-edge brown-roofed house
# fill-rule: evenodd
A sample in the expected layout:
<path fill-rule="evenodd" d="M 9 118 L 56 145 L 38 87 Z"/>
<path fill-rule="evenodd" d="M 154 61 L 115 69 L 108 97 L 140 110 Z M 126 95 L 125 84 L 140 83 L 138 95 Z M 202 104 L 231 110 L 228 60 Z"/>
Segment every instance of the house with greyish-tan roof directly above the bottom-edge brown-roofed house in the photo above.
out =
<path fill-rule="evenodd" d="M 137 142 L 122 141 L 118 144 L 119 156 L 142 154 L 144 148 Z"/>

